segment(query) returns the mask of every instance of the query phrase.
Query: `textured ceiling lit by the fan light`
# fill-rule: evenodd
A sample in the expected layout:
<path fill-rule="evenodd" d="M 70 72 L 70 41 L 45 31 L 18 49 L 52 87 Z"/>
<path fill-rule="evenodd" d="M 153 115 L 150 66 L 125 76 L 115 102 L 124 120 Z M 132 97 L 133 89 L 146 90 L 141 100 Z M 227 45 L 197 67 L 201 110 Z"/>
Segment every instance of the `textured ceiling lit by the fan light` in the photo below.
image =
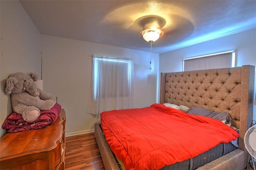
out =
<path fill-rule="evenodd" d="M 140 51 L 145 16 L 165 19 L 153 53 L 256 27 L 256 0 L 20 0 L 41 34 Z"/>

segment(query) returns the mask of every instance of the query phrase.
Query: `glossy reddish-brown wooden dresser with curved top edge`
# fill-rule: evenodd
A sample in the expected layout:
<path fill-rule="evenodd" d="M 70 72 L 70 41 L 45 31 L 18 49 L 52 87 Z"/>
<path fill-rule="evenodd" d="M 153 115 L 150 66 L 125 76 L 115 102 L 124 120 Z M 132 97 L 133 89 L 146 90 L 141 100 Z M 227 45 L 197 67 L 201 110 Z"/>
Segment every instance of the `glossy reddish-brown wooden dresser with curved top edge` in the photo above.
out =
<path fill-rule="evenodd" d="M 4 135 L 0 139 L 0 169 L 64 170 L 65 123 L 66 115 L 62 109 L 52 125 Z"/>

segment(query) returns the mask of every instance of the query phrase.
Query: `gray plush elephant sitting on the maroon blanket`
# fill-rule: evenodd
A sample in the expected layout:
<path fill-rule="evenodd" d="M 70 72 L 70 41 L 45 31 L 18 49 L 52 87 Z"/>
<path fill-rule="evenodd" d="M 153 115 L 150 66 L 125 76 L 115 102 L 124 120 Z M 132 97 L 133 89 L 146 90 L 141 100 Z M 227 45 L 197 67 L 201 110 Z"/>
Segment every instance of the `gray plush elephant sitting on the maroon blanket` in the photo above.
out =
<path fill-rule="evenodd" d="M 12 109 L 25 121 L 34 121 L 40 110 L 49 110 L 56 104 L 56 97 L 36 88 L 35 73 L 16 72 L 6 80 L 5 92 L 11 94 Z"/>

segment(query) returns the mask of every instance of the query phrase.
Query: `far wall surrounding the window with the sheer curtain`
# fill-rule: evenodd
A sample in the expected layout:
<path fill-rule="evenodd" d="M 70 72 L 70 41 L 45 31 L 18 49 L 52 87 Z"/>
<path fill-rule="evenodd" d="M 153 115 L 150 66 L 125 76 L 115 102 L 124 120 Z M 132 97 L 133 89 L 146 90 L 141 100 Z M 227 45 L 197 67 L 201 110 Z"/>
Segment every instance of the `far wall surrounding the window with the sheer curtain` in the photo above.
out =
<path fill-rule="evenodd" d="M 134 107 L 147 107 L 156 102 L 156 83 L 159 55 L 42 35 L 42 79 L 44 91 L 58 96 L 58 103 L 66 110 L 66 133 L 76 135 L 94 131 L 99 115 L 86 113 L 92 55 L 126 57 L 134 60 Z"/>

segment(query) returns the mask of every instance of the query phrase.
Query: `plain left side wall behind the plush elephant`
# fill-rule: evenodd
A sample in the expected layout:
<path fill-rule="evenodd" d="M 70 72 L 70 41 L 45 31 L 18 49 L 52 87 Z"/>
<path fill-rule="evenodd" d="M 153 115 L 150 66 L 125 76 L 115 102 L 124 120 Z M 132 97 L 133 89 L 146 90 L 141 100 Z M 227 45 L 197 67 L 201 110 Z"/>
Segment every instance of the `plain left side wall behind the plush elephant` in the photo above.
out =
<path fill-rule="evenodd" d="M 6 79 L 14 72 L 41 72 L 41 35 L 17 0 L 0 0 L 0 124 L 12 113 L 10 95 L 4 93 Z M 0 129 L 0 136 L 6 133 Z"/>

